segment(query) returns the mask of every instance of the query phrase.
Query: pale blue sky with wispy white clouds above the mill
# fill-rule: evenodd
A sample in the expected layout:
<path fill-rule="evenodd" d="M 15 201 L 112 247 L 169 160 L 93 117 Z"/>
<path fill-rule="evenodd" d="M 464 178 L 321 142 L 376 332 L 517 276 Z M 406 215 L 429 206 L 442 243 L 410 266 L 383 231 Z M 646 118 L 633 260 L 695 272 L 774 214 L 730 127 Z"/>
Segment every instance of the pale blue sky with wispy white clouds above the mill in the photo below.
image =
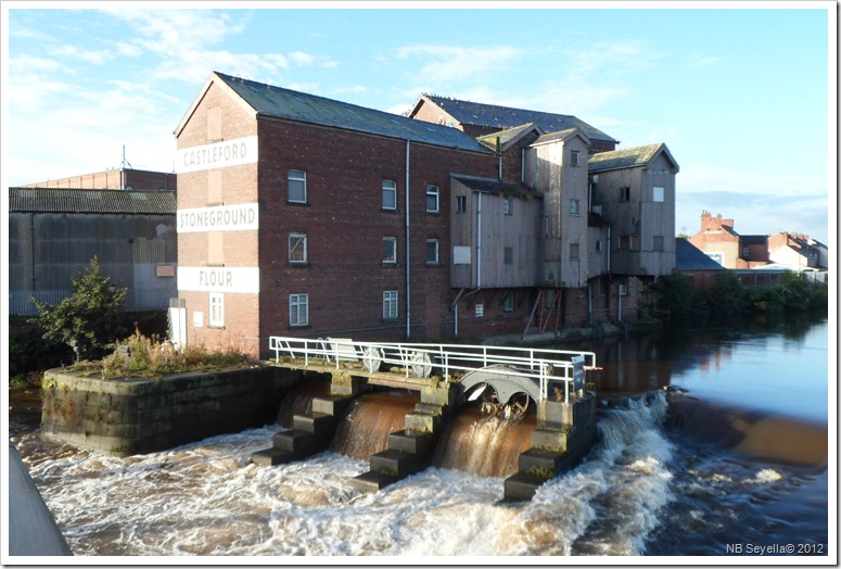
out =
<path fill-rule="evenodd" d="M 397 113 L 430 92 L 572 114 L 668 146 L 679 232 L 709 210 L 834 244 L 834 2 L 65 5 L 2 3 L 7 186 L 118 167 L 124 144 L 170 172 L 220 71 Z"/>

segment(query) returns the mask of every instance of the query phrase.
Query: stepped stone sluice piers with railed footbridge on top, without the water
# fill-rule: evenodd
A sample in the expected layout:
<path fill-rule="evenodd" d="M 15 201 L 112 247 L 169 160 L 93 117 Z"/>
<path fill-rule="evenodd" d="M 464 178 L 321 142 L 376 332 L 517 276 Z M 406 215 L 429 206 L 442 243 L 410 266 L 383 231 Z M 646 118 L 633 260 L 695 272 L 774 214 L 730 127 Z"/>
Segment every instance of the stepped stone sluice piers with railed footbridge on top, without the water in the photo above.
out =
<path fill-rule="evenodd" d="M 370 456 L 370 470 L 352 480 L 362 491 L 431 466 L 445 421 L 480 397 L 490 408 L 536 410 L 531 446 L 506 479 L 506 500 L 531 498 L 579 463 L 597 437 L 596 397 L 585 389 L 585 372 L 598 369 L 592 352 L 286 337 L 271 337 L 270 349 L 276 366 L 329 377 L 330 393 L 314 397 L 311 410 L 296 414 L 270 448 L 253 453 L 255 464 L 275 466 L 327 450 L 354 400 L 382 387 L 417 391 L 420 402 L 406 413 L 404 428 L 388 433 L 387 447 Z"/>

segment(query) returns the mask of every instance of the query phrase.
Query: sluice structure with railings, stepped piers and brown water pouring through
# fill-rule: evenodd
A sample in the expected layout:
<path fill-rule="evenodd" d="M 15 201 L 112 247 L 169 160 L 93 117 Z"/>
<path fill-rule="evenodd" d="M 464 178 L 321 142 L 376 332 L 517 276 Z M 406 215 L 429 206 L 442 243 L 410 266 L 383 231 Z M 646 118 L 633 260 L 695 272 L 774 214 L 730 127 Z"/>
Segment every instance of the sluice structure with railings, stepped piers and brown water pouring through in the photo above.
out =
<path fill-rule="evenodd" d="M 504 497 L 521 501 L 597 439 L 591 353 L 276 337 L 272 346 L 278 366 L 322 385 L 284 402 L 286 430 L 252 454 L 258 465 L 331 450 L 370 461 L 352 481 L 361 491 L 437 467 L 506 477 Z"/>

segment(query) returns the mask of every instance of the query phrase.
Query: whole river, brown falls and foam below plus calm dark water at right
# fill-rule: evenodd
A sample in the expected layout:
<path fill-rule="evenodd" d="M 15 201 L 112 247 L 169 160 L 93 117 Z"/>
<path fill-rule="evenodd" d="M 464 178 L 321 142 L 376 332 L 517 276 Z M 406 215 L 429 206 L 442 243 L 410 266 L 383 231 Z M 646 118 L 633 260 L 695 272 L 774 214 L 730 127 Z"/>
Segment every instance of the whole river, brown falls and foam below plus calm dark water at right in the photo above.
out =
<path fill-rule="evenodd" d="M 12 434 L 79 556 L 706 562 L 793 547 L 787 562 L 827 562 L 836 559 L 837 528 L 828 346 L 827 323 L 572 346 L 596 351 L 604 368 L 600 442 L 581 466 L 515 505 L 499 500 L 533 418 L 512 423 L 474 408 L 454 417 L 436 466 L 378 493 L 354 490 L 347 479 L 369 469 L 366 453 L 403 428 L 413 400 L 400 392 L 364 396 L 329 452 L 277 467 L 249 461 L 270 446 L 277 426 L 127 458 L 51 445 L 14 421 Z M 614 397 L 650 390 L 658 395 Z M 311 396 L 296 393 L 280 415 Z M 803 556 L 815 553 L 823 560 Z M 309 561 L 319 559 L 339 562 Z"/>

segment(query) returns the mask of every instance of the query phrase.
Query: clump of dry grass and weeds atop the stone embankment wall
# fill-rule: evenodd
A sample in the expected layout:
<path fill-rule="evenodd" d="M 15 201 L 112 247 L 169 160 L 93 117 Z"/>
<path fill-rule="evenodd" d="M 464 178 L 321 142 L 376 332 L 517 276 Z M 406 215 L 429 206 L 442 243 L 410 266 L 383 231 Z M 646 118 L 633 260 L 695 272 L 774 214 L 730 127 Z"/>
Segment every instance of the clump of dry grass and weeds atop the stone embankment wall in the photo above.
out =
<path fill-rule="evenodd" d="M 81 364 L 84 369 L 79 370 L 94 371 L 91 366 L 98 366 L 103 379 L 160 379 L 169 374 L 247 365 L 249 358 L 234 350 L 211 351 L 203 345 L 187 345 L 182 350 L 176 350 L 171 343 L 162 341 L 157 336 L 150 338 L 136 330 L 132 336 L 117 344 L 114 352 L 105 356 L 99 365 L 86 362 Z"/>

